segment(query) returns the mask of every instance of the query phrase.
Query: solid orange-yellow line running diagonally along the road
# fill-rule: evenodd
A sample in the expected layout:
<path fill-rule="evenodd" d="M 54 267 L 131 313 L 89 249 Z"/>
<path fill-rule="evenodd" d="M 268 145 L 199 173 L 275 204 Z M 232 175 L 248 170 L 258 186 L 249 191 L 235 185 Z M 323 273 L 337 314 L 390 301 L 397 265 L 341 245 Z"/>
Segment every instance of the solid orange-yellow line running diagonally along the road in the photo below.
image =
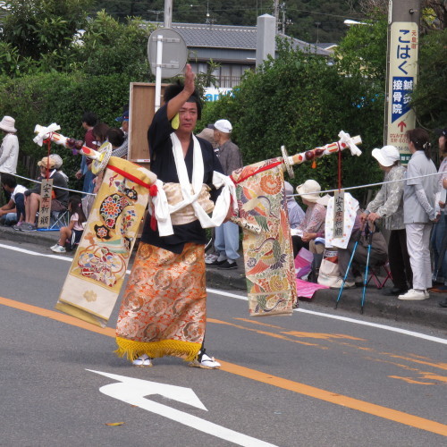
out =
<path fill-rule="evenodd" d="M 95 325 L 90 325 L 85 323 L 73 316 L 66 316 L 55 312 L 54 310 L 48 310 L 45 308 L 38 308 L 37 306 L 32 306 L 30 304 L 24 304 L 19 301 L 14 301 L 13 299 L 6 299 L 0 297 L 0 304 L 8 306 L 10 308 L 16 308 L 25 312 L 30 312 L 38 316 L 45 316 L 46 318 L 51 318 L 56 321 L 60 321 L 67 325 L 73 325 L 80 327 L 82 329 L 87 329 L 88 331 L 94 333 L 100 333 L 108 337 L 114 337 L 115 332 L 113 328 L 105 327 L 100 328 Z M 210 322 L 219 322 L 219 320 L 209 319 Z M 225 323 L 225 322 L 221 322 Z M 389 409 L 387 407 L 382 407 L 380 405 L 375 405 L 367 401 L 360 401 L 358 399 L 350 398 L 349 396 L 344 396 L 336 392 L 329 392 L 310 386 L 307 384 L 299 384 L 299 382 L 293 382 L 283 377 L 278 377 L 275 375 L 270 375 L 263 373 L 262 371 L 257 371 L 256 369 L 251 369 L 248 367 L 240 367 L 233 363 L 224 362 L 219 360 L 222 364 L 221 369 L 227 373 L 233 375 L 240 375 L 241 377 L 248 378 L 260 382 L 262 384 L 269 384 L 277 388 L 282 388 L 283 390 L 288 390 L 291 392 L 297 392 L 305 396 L 313 397 L 320 401 L 326 401 L 333 403 L 335 405 L 340 405 L 349 409 L 356 409 L 363 413 L 367 413 L 376 417 L 383 417 L 384 419 L 392 420 L 394 422 L 399 422 L 405 426 L 413 426 L 427 432 L 432 432 L 434 434 L 442 434 L 447 436 L 447 425 L 435 422 L 424 417 L 417 417 L 410 415 L 409 413 L 404 413 L 403 411 L 398 411 L 396 409 Z"/>

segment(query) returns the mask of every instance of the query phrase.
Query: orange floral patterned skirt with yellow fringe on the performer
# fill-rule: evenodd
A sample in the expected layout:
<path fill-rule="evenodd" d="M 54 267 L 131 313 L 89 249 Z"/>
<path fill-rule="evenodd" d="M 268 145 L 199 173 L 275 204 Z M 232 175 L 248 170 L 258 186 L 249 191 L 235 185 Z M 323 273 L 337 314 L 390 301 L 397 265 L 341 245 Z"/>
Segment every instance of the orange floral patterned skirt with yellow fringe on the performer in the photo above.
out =
<path fill-rule="evenodd" d="M 194 360 L 205 335 L 206 299 L 203 245 L 187 243 L 178 255 L 141 242 L 118 316 L 116 353 Z"/>

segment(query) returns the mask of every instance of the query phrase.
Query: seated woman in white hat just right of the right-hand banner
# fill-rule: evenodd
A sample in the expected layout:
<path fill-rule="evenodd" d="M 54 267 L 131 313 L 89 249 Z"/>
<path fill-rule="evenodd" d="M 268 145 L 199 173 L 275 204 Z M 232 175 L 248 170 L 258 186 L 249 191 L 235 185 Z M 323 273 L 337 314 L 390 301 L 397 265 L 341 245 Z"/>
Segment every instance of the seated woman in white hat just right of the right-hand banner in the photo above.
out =
<path fill-rule="evenodd" d="M 307 180 L 302 185 L 297 186 L 297 192 L 308 209 L 303 221 L 294 231 L 294 235 L 292 232 L 293 257 L 296 257 L 299 250 L 303 247 L 308 249 L 310 240 L 321 238 L 325 235 L 325 206 L 329 196 L 321 197 L 320 191 L 321 186 L 315 180 Z"/>

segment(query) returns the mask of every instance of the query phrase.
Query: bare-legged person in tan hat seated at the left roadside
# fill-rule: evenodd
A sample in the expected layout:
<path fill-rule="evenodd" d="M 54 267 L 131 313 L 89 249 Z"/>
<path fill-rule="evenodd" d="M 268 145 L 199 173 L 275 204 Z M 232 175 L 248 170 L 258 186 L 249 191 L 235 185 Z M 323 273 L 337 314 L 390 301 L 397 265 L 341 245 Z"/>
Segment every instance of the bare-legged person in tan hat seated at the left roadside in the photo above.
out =
<path fill-rule="evenodd" d="M 51 157 L 44 156 L 42 160 L 38 162 L 38 166 L 40 167 L 38 181 L 42 181 L 46 179 L 46 177 L 53 179 L 51 211 L 64 211 L 68 204 L 69 193 L 67 190 L 67 182 L 63 178 L 63 175 L 55 170 L 55 161 L 52 160 Z M 63 190 L 61 188 L 63 188 Z M 26 190 L 25 197 L 25 222 L 21 223 L 20 226 L 14 225 L 14 230 L 35 232 L 38 229 L 35 222 L 36 213 L 40 206 L 40 183 L 38 183 L 32 190 Z"/>

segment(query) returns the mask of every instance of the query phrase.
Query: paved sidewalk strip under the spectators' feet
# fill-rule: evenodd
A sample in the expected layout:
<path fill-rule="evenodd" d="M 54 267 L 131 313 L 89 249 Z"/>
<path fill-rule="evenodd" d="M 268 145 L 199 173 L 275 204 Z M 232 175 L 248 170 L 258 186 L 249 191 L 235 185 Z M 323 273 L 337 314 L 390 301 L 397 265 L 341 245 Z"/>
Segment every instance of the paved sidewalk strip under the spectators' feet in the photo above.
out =
<path fill-rule="evenodd" d="M 19 232 L 11 227 L 0 226 L 0 242 L 28 242 L 41 245 L 45 249 L 49 249 L 55 244 L 58 235 L 59 232 Z M 207 286 L 223 290 L 247 291 L 242 258 L 238 259 L 238 268 L 234 270 L 207 267 Z M 392 287 L 390 281 L 384 290 L 389 287 Z M 447 297 L 447 294 L 431 293 L 430 299 L 423 301 L 402 301 L 397 297 L 386 297 L 383 292 L 378 290 L 374 284 L 368 285 L 364 308 L 365 316 L 383 316 L 400 322 L 419 323 L 447 332 L 447 308 L 441 308 L 438 305 L 439 301 Z M 333 309 L 337 296 L 338 291 L 323 289 L 316 291 L 311 300 L 302 300 Z M 339 308 L 351 311 L 353 317 L 361 318 L 361 296 L 361 287 L 343 291 Z M 337 311 L 333 310 L 333 312 Z"/>

